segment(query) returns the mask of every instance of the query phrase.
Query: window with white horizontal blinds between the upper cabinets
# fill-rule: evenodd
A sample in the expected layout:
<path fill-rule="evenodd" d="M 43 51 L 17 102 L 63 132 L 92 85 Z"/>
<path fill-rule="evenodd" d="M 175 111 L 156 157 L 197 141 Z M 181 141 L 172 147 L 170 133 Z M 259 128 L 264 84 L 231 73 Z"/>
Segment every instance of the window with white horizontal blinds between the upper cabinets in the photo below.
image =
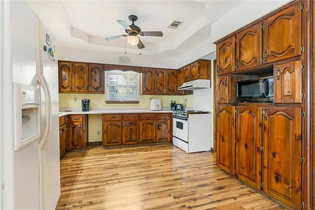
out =
<path fill-rule="evenodd" d="M 139 73 L 106 71 L 106 103 L 138 103 Z"/>

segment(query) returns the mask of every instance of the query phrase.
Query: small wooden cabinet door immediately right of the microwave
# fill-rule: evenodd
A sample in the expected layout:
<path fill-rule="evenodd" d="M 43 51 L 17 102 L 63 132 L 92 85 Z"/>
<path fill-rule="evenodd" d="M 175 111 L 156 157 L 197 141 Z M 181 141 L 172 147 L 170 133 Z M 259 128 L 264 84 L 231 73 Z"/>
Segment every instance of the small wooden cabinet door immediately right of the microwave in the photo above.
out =
<path fill-rule="evenodd" d="M 274 86 L 276 103 L 302 103 L 301 61 L 276 65 Z"/>

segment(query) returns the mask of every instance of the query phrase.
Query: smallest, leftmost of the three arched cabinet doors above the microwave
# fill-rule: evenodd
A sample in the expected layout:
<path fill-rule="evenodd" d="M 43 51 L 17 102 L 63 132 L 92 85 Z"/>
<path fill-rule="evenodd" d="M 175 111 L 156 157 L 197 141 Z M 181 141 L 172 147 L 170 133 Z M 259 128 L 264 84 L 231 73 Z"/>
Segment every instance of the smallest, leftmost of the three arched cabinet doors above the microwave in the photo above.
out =
<path fill-rule="evenodd" d="M 217 44 L 217 75 L 235 71 L 234 36 Z"/>

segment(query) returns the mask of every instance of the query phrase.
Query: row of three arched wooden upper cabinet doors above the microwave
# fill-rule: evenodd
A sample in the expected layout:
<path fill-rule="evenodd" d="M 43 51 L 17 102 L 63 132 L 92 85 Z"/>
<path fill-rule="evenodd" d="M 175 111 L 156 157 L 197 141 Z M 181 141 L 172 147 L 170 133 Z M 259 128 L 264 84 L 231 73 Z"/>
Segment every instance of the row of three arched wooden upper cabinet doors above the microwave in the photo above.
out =
<path fill-rule="evenodd" d="M 217 75 L 301 55 L 301 2 L 217 43 Z"/>

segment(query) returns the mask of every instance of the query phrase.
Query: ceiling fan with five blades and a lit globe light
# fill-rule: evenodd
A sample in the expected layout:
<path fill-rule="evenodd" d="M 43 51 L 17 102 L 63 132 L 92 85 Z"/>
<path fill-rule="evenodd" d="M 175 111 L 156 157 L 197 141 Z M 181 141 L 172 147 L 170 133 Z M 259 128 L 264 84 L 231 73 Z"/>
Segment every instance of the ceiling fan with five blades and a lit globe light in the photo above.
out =
<path fill-rule="evenodd" d="M 126 35 L 116 35 L 116 36 L 111 36 L 108 38 L 105 38 L 105 40 L 112 40 L 115 38 L 121 38 L 121 37 L 127 37 L 127 41 L 130 45 L 137 45 L 139 49 L 144 48 L 144 44 L 142 43 L 142 41 L 140 40 L 140 38 L 138 37 L 138 35 L 142 35 L 142 36 L 163 36 L 162 32 L 141 32 L 141 29 L 134 25 L 134 22 L 136 22 L 138 20 L 138 17 L 135 15 L 129 15 L 128 16 L 129 20 L 132 22 L 131 25 L 128 25 L 125 21 L 123 20 L 117 20 L 118 23 L 120 23 L 120 25 L 122 25 L 125 28 L 126 31 Z"/>

